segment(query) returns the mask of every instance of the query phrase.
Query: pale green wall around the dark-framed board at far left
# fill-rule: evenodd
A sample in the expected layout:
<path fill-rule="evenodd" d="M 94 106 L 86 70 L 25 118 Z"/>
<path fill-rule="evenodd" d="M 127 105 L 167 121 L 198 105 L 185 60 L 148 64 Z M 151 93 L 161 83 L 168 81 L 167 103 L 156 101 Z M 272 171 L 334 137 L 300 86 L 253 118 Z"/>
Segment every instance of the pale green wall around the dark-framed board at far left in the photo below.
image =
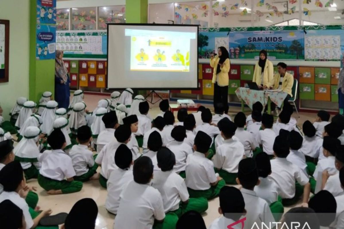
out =
<path fill-rule="evenodd" d="M 10 20 L 9 82 L 0 83 L 3 116 L 19 96 L 29 95 L 29 1 L 1 0 L 0 19 Z"/>

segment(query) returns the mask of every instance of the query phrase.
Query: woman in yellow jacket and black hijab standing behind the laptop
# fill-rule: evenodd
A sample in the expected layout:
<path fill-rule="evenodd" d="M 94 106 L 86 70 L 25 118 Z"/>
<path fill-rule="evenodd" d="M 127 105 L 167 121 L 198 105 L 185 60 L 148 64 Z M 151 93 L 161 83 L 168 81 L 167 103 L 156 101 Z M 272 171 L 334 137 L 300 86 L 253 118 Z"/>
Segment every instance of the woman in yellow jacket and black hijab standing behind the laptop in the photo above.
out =
<path fill-rule="evenodd" d="M 267 59 L 266 50 L 260 50 L 259 61 L 256 63 L 252 82 L 256 82 L 259 88 L 268 89 L 273 86 L 273 64 Z"/>

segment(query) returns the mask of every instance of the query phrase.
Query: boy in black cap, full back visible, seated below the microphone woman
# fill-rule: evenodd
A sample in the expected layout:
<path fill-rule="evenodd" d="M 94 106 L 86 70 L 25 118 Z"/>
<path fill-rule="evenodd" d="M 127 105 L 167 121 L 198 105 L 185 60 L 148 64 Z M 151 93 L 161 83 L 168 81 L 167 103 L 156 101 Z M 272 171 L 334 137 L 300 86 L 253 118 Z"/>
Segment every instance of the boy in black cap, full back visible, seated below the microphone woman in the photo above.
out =
<path fill-rule="evenodd" d="M 238 165 L 245 155 L 243 144 L 240 141 L 233 140 L 236 125 L 225 119 L 221 122 L 221 136 L 224 138 L 222 145 L 216 149 L 214 155 L 214 168 L 227 184 L 237 184 Z"/>

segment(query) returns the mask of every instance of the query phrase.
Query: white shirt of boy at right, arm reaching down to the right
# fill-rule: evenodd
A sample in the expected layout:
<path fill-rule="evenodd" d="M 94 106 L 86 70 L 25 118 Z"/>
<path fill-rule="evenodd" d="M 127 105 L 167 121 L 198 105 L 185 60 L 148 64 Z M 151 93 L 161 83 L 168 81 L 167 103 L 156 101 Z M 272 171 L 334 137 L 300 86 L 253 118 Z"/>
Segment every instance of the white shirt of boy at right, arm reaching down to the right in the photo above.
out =
<path fill-rule="evenodd" d="M 295 196 L 295 181 L 302 186 L 309 182 L 308 176 L 287 158 L 275 158 L 270 162 L 272 171 L 270 177 L 278 185 L 278 194 L 283 199 L 291 199 Z"/>

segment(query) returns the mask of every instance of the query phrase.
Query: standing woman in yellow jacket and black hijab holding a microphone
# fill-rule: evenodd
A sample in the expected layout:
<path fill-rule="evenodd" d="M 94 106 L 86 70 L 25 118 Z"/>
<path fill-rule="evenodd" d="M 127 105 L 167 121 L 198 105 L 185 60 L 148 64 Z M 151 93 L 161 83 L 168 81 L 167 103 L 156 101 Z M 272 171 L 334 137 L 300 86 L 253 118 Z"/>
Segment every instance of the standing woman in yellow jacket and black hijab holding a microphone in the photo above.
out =
<path fill-rule="evenodd" d="M 218 104 L 223 105 L 225 114 L 228 113 L 228 72 L 230 69 L 229 54 L 225 47 L 221 46 L 217 49 L 218 56 L 212 55 L 210 59 L 210 66 L 214 68 L 213 83 L 214 83 L 214 108 Z"/>

